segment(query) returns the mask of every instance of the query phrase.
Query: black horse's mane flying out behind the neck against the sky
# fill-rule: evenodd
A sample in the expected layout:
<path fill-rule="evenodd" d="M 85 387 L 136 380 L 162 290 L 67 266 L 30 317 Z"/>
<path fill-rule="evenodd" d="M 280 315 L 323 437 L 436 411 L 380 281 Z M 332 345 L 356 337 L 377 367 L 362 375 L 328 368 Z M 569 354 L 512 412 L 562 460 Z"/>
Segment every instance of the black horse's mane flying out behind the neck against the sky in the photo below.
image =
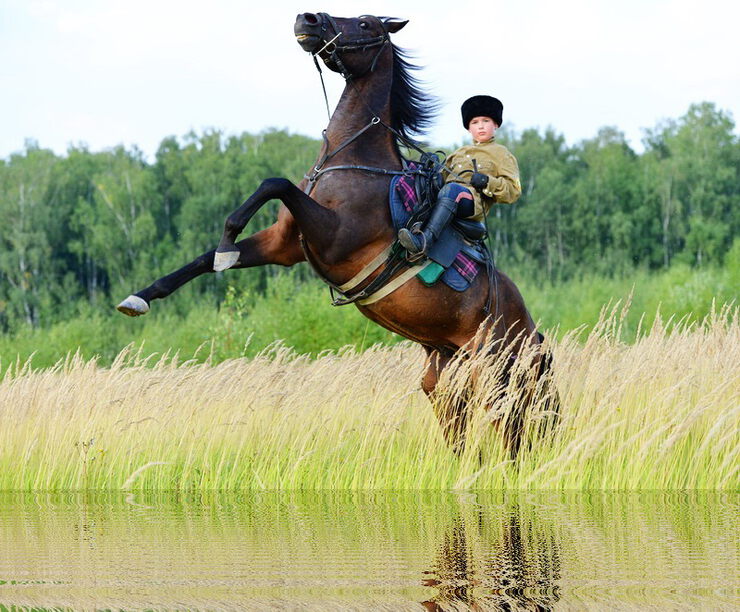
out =
<path fill-rule="evenodd" d="M 407 61 L 408 51 L 393 44 L 391 47 L 393 48 L 391 126 L 404 138 L 416 142 L 414 135 L 422 135 L 432 124 L 439 110 L 439 103 L 435 96 L 422 90 L 421 83 L 413 75 L 413 71 L 421 67 Z M 404 145 L 400 140 L 397 144 Z"/>

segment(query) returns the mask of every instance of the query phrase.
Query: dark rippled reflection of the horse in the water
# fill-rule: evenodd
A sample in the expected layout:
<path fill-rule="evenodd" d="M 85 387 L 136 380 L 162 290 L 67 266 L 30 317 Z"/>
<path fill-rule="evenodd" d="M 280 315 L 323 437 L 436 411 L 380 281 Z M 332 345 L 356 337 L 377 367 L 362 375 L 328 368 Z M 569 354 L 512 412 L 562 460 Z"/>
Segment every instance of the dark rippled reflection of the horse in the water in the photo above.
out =
<path fill-rule="evenodd" d="M 422 580 L 438 591 L 421 602 L 426 610 L 545 611 L 560 600 L 554 534 L 543 535 L 543 526 L 524 519 L 518 506 L 500 521 L 487 525 L 489 519 L 479 510 L 468 520 L 461 512 L 452 520 Z"/>

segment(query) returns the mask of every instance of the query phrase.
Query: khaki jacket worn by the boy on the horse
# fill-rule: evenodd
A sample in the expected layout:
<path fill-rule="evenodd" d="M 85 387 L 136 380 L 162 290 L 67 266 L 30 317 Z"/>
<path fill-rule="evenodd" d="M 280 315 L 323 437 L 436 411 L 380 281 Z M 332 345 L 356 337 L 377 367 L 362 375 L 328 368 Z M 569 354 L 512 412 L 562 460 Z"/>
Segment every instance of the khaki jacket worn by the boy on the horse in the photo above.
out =
<path fill-rule="evenodd" d="M 464 170 L 473 170 L 473 160 L 478 163 L 478 172 L 488 176 L 488 185 L 481 193 L 470 186 L 471 172 L 456 176 Z M 465 185 L 473 194 L 475 214 L 470 219 L 475 221 L 483 221 L 494 203 L 513 204 L 522 194 L 516 158 L 493 139 L 460 147 L 447 157 L 445 164 L 450 169 L 442 173 L 445 182 Z"/>

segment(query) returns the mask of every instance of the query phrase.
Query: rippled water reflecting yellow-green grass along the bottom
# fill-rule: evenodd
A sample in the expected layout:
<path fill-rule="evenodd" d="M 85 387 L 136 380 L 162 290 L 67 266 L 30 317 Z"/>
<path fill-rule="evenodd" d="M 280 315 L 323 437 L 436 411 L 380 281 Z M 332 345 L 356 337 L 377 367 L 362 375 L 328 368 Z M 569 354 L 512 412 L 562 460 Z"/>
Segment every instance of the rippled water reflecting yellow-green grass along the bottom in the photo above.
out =
<path fill-rule="evenodd" d="M 734 493 L 0 493 L 0 610 L 737 610 Z"/>

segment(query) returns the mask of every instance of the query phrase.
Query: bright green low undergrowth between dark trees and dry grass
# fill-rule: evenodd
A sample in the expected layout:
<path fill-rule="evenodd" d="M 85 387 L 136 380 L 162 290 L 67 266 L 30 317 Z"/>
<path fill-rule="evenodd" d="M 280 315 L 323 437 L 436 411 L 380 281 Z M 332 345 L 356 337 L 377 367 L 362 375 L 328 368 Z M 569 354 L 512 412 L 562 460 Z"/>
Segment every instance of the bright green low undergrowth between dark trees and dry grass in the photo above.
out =
<path fill-rule="evenodd" d="M 505 269 L 520 287 L 535 320 L 545 329 L 556 330 L 558 337 L 577 328 L 593 329 L 604 304 L 630 297 L 632 309 L 623 323 L 623 338 L 632 341 L 644 313 L 642 324 L 648 326 L 658 312 L 698 321 L 713 303 L 737 303 L 740 258 L 735 260 L 737 265 L 724 268 L 676 265 L 664 272 L 636 270 L 615 278 L 586 273 L 556 284 L 539 282 L 523 270 Z M 362 351 L 377 343 L 400 341 L 362 317 L 354 306 L 332 307 L 326 287 L 318 280 L 300 283 L 290 273 L 279 274 L 264 294 L 256 295 L 238 288 L 240 275 L 249 271 L 230 274 L 237 284 L 220 305 L 198 301 L 185 288 L 167 300 L 155 301 L 144 317 L 119 314 L 114 309 L 116 300 L 111 300 L 96 308 L 81 304 L 77 317 L 43 329 L 0 335 L 0 371 L 29 358 L 34 367 L 50 367 L 77 350 L 86 359 L 97 357 L 99 364 L 110 365 L 131 343 L 143 346 L 146 353 L 179 352 L 201 362 L 209 356 L 216 363 L 253 357 L 276 340 L 312 356 L 347 345 Z"/>

